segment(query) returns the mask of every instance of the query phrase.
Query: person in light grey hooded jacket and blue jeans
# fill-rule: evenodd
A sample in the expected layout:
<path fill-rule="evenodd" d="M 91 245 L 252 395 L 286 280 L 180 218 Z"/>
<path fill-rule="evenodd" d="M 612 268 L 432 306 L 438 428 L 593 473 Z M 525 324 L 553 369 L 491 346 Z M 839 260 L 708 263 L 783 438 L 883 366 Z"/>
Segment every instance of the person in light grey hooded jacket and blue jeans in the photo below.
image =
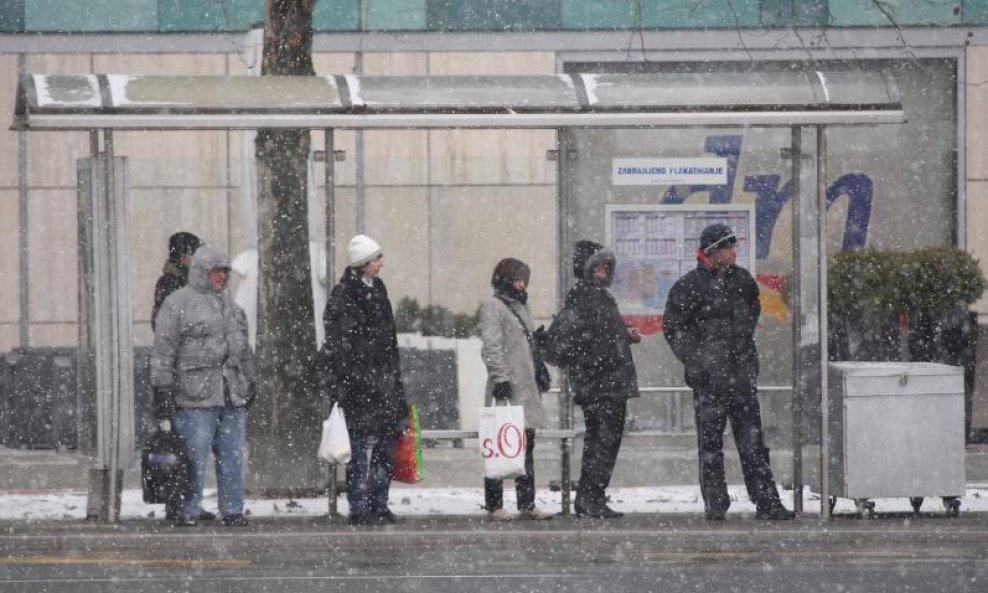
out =
<path fill-rule="evenodd" d="M 175 429 L 193 462 L 192 493 L 178 518 L 195 525 L 202 508 L 210 449 L 216 455 L 219 510 L 227 525 L 243 516 L 243 451 L 247 408 L 257 394 L 247 317 L 226 293 L 230 260 L 204 245 L 189 267 L 189 282 L 158 312 L 151 353 L 151 385 L 162 429 Z"/>

